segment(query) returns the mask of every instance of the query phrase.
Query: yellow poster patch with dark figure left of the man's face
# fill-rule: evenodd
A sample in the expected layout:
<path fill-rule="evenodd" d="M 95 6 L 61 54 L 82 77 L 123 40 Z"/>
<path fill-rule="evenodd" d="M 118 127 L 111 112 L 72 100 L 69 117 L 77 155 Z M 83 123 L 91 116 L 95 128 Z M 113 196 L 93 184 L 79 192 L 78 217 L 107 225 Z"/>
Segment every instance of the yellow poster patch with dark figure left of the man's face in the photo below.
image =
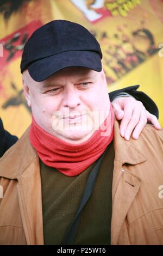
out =
<path fill-rule="evenodd" d="M 22 91 L 20 58 L 8 65 L 3 74 L 3 89 L 0 94 L 0 116 L 4 127 L 11 134 L 20 137 L 31 123 L 31 114 Z M 15 75 L 14 75 L 15 74 Z"/>

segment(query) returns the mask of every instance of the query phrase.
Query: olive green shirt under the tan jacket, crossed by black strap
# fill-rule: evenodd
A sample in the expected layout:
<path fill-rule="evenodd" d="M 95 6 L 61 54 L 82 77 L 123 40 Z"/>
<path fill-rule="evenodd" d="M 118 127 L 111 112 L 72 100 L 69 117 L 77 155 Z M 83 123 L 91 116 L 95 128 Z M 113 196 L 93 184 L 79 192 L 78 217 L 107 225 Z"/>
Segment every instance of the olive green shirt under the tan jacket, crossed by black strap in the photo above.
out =
<path fill-rule="evenodd" d="M 74 245 L 110 244 L 114 157 L 111 143 L 99 168 L 92 195 L 82 210 Z M 83 173 L 70 177 L 46 166 L 40 160 L 45 245 L 62 244 L 66 231 L 77 214 L 86 181 L 96 162 Z"/>

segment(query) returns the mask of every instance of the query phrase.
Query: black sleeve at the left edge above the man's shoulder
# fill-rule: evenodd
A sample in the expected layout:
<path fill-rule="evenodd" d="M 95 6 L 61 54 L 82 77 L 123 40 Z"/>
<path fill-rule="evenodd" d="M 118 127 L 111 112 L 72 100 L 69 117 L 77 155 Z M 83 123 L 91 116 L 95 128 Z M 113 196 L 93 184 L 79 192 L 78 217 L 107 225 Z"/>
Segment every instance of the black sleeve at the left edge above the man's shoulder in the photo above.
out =
<path fill-rule="evenodd" d="M 3 156 L 5 151 L 7 151 L 16 141 L 17 137 L 11 135 L 8 131 L 4 130 L 2 120 L 0 118 L 0 157 Z"/>

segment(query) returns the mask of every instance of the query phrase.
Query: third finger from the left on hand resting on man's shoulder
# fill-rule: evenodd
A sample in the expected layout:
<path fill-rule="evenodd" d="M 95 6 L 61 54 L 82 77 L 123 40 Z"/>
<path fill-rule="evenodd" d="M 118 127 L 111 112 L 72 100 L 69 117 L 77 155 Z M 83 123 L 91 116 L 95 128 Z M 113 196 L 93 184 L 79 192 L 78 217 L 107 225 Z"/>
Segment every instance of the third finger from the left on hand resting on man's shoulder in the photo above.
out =
<path fill-rule="evenodd" d="M 131 133 L 135 129 L 135 126 L 139 123 L 141 115 L 145 115 L 145 109 L 142 111 L 142 109 L 139 108 L 139 107 L 134 108 L 133 115 L 132 115 L 131 120 L 129 121 L 129 123 L 128 123 L 127 127 L 126 127 L 126 132 L 124 134 L 124 138 L 127 141 L 129 140 L 129 138 L 131 136 Z M 147 118 L 146 118 L 146 123 L 147 123 Z"/>

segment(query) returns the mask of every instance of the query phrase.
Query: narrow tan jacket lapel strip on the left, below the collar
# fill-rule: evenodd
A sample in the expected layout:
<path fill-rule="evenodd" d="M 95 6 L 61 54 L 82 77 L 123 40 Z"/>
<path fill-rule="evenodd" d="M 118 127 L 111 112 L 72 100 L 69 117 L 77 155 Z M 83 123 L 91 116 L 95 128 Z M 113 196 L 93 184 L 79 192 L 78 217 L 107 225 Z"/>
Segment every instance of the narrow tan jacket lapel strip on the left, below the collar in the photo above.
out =
<path fill-rule="evenodd" d="M 18 200 L 28 245 L 43 245 L 39 158 L 18 177 Z"/>

